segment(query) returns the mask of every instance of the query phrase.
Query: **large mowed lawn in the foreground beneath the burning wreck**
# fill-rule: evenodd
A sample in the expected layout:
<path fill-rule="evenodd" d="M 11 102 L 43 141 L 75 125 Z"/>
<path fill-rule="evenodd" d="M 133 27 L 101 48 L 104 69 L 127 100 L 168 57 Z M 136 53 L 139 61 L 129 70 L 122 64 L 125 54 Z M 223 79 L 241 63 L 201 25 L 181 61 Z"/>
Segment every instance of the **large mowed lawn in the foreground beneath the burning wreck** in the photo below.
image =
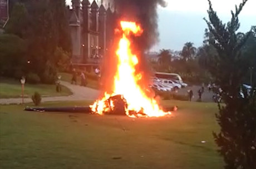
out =
<path fill-rule="evenodd" d="M 212 136 L 219 130 L 216 104 L 162 105 L 178 105 L 179 110 L 173 117 L 132 119 L 1 106 L 0 168 L 223 168 Z"/>

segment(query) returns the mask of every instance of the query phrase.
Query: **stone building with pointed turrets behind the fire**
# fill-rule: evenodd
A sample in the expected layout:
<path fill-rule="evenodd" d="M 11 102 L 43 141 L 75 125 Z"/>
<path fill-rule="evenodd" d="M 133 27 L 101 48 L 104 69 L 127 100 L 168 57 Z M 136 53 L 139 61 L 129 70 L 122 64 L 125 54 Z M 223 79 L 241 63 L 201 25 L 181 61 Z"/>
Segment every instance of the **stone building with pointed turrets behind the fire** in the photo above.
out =
<path fill-rule="evenodd" d="M 112 0 L 97 3 L 72 0 L 70 30 L 72 64 L 99 64 L 114 38 L 115 12 Z"/>

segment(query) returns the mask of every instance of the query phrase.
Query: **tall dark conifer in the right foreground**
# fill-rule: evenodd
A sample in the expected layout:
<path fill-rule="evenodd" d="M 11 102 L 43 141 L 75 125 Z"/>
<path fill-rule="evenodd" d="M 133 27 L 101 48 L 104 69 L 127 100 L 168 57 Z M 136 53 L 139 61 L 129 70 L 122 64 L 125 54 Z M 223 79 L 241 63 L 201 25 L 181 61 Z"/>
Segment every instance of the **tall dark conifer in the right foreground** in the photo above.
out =
<path fill-rule="evenodd" d="M 231 21 L 223 24 L 209 1 L 209 21 L 206 21 L 214 40 L 210 44 L 216 49 L 213 66 L 210 69 L 216 84 L 223 89 L 224 105 L 219 104 L 216 118 L 220 132 L 214 133 L 219 152 L 224 157 L 225 168 L 256 168 L 256 94 L 244 91 L 240 94 L 243 76 L 248 72 L 248 57 L 242 49 L 250 33 L 238 36 L 238 15 L 247 0 L 232 11 Z"/>

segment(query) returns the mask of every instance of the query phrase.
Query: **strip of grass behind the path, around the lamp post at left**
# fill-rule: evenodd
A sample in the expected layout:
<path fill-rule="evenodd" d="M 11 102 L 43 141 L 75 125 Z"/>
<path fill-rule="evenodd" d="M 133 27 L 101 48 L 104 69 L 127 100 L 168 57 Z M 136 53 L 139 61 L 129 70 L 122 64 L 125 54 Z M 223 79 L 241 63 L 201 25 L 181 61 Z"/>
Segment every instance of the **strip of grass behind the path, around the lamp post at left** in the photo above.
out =
<path fill-rule="evenodd" d="M 35 91 L 40 93 L 42 96 L 67 96 L 71 95 L 72 92 L 62 86 L 62 92 L 56 92 L 55 85 L 46 85 L 46 84 L 25 84 L 24 86 L 24 96 L 31 97 Z M 18 80 L 11 79 L 1 79 L 0 82 L 0 98 L 20 98 L 21 93 L 21 83 Z"/>

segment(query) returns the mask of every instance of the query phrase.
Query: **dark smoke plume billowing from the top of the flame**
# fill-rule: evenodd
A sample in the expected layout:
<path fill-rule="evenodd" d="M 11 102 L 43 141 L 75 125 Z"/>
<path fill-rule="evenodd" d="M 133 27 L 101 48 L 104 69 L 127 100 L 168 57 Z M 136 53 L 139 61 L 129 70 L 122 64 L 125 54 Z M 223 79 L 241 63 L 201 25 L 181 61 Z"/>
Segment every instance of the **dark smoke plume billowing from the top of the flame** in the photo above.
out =
<path fill-rule="evenodd" d="M 136 39 L 136 46 L 146 52 L 157 43 L 157 6 L 166 6 L 164 0 L 114 0 L 117 16 L 140 23 L 144 33 Z"/>

